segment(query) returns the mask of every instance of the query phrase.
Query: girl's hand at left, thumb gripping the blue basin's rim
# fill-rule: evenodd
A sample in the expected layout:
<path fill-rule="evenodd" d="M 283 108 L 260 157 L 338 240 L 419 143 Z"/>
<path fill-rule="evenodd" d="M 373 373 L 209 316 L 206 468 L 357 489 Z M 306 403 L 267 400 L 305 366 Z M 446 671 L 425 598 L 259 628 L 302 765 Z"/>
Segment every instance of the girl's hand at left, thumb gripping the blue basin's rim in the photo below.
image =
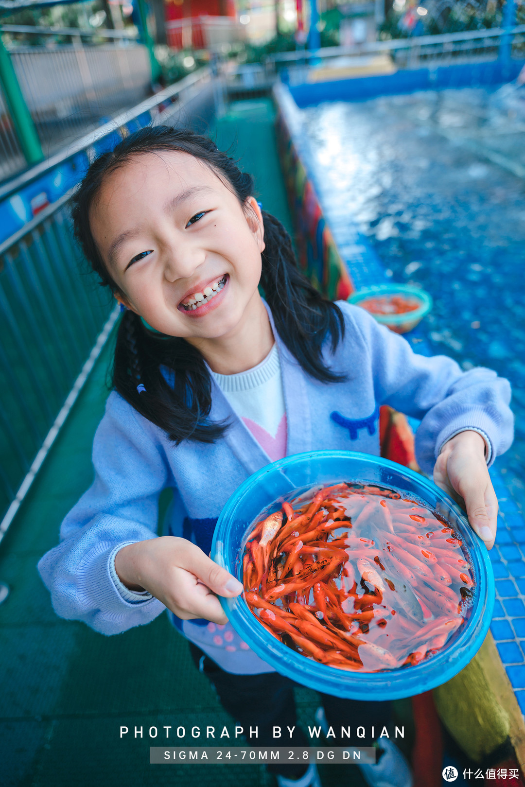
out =
<path fill-rule="evenodd" d="M 227 623 L 215 594 L 232 598 L 242 585 L 186 538 L 161 536 L 116 552 L 115 571 L 130 590 L 148 590 L 183 620 Z"/>

